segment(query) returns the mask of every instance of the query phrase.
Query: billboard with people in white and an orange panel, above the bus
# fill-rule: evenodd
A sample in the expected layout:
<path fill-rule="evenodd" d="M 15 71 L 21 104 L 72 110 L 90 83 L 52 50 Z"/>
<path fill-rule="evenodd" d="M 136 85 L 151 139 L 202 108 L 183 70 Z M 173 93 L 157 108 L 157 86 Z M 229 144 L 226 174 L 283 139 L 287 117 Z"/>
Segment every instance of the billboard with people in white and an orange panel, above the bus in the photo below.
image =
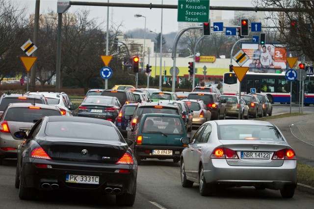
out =
<path fill-rule="evenodd" d="M 250 57 L 242 67 L 249 67 L 250 71 L 275 72 L 287 68 L 285 45 L 242 43 L 242 50 Z"/>

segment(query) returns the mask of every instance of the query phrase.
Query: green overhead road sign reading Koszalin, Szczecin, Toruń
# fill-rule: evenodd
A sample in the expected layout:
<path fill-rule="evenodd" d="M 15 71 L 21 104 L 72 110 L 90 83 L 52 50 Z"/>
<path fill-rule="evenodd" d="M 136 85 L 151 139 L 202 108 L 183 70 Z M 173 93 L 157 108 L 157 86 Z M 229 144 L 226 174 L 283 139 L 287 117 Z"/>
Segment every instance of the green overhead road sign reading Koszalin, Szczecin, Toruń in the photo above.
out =
<path fill-rule="evenodd" d="M 208 23 L 209 0 L 178 0 L 178 22 Z"/>

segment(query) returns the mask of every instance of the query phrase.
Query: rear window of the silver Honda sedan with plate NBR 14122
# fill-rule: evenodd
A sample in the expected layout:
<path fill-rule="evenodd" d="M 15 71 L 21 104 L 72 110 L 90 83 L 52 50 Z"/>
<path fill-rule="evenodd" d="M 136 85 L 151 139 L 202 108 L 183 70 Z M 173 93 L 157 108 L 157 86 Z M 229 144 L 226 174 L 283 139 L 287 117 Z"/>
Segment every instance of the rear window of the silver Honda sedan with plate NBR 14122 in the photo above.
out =
<path fill-rule="evenodd" d="M 265 125 L 219 125 L 221 140 L 284 140 L 278 129 Z"/>

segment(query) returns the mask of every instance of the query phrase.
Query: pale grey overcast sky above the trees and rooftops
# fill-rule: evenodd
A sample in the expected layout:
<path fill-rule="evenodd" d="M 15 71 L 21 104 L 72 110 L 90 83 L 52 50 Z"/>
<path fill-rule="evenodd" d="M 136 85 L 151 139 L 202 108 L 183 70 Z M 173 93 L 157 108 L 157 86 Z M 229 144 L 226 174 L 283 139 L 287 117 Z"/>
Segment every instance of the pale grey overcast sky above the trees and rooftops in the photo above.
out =
<path fill-rule="evenodd" d="M 26 6 L 28 13 L 35 12 L 36 0 L 13 0 Z M 73 0 L 73 1 L 89 1 L 89 2 L 108 2 L 108 0 Z M 152 3 L 161 4 L 162 0 L 109 0 L 113 3 Z M 178 0 L 163 0 L 163 4 L 178 4 Z M 247 6 L 252 7 L 251 0 L 210 0 L 209 6 Z M 103 6 L 76 6 L 70 7 L 68 12 L 74 12 L 78 9 L 87 9 L 91 11 L 91 17 L 99 18 L 105 21 L 107 17 L 107 7 Z M 49 11 L 57 11 L 57 0 L 40 0 L 40 13 L 48 13 Z M 178 30 L 177 9 L 163 9 L 162 33 L 170 33 Z M 109 25 L 122 24 L 122 31 L 132 30 L 135 28 L 144 28 L 145 18 L 135 18 L 135 14 L 146 17 L 146 29 L 153 30 L 156 33 L 161 29 L 161 9 L 149 8 L 132 8 L 132 7 L 111 7 L 109 9 Z M 222 19 L 232 19 L 233 11 L 223 11 Z M 105 21 L 106 22 L 106 21 Z M 105 28 L 105 25 L 104 25 Z"/>

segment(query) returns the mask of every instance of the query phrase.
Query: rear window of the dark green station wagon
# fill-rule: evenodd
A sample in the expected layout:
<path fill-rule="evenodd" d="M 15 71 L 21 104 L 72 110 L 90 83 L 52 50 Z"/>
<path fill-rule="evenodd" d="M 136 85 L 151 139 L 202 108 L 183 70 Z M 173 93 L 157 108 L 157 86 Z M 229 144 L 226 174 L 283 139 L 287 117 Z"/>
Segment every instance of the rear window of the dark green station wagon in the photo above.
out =
<path fill-rule="evenodd" d="M 142 133 L 183 134 L 183 128 L 179 117 L 148 116 Z"/>

